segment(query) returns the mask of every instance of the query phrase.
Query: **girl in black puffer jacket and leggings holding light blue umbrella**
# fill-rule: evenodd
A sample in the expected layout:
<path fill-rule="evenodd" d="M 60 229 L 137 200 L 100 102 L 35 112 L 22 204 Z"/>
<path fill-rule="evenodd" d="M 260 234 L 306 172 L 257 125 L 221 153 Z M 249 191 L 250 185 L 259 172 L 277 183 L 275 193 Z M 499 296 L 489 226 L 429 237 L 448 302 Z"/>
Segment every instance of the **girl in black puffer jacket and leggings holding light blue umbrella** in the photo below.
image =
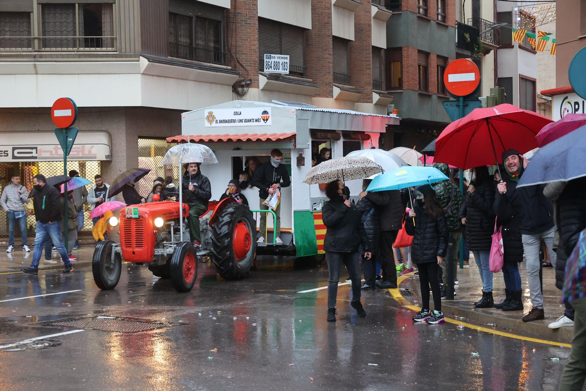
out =
<path fill-rule="evenodd" d="M 413 235 L 411 258 L 419 269 L 421 284 L 421 311 L 413 316 L 413 320 L 427 321 L 435 325 L 444 322 L 444 314 L 441 312 L 438 265 L 444 261 L 448 252 L 448 223 L 444 210 L 430 185 L 418 187 L 415 194 L 417 194 L 417 204 L 409 211 L 405 224 L 407 234 Z M 430 311 L 430 285 L 434 295 L 434 312 Z"/>

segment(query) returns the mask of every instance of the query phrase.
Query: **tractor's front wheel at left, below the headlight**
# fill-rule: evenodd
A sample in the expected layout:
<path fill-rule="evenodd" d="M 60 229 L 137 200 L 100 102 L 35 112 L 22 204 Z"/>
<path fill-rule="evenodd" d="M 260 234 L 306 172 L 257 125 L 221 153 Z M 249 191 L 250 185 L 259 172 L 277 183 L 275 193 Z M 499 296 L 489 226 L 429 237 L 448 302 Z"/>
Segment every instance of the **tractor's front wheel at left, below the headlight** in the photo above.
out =
<path fill-rule="evenodd" d="M 114 254 L 112 259 L 112 248 L 114 242 L 103 240 L 96 245 L 94 256 L 91 259 L 91 272 L 98 288 L 105 290 L 114 289 L 120 281 L 122 271 L 122 257 L 120 253 Z"/>

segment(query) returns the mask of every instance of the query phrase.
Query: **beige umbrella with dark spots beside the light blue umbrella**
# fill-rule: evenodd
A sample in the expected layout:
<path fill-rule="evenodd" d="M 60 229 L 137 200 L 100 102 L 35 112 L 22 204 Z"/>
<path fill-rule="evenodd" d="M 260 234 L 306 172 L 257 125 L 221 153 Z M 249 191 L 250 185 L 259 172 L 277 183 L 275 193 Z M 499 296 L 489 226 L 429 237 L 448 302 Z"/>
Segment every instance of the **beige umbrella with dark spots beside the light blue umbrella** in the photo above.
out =
<path fill-rule="evenodd" d="M 347 181 L 368 178 L 381 172 L 382 168 L 367 157 L 337 157 L 312 167 L 303 181 L 309 184 Z"/>

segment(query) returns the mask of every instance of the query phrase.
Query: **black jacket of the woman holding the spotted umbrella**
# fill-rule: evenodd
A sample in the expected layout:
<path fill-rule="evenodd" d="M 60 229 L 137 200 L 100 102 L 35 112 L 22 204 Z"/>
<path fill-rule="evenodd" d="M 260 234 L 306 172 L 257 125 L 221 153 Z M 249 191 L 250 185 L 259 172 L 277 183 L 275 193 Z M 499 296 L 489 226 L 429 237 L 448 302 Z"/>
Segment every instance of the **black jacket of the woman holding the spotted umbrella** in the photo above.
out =
<path fill-rule="evenodd" d="M 323 250 L 357 252 L 360 245 L 366 249 L 365 252 L 372 250 L 355 204 L 347 207 L 342 197 L 329 200 L 323 205 L 322 220 L 323 225 L 328 228 L 323 240 Z"/>

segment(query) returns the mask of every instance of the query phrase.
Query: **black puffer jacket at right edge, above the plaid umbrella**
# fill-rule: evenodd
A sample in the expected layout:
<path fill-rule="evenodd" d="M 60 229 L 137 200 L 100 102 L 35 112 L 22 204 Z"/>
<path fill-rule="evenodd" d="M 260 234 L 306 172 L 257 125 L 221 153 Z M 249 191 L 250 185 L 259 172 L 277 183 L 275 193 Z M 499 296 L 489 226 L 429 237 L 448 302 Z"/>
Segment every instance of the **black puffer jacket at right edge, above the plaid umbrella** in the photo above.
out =
<path fill-rule="evenodd" d="M 557 251 L 556 286 L 564 286 L 565 264 L 574 251 L 580 232 L 586 228 L 586 177 L 568 181 L 557 200 L 558 230 L 560 247 Z"/>

